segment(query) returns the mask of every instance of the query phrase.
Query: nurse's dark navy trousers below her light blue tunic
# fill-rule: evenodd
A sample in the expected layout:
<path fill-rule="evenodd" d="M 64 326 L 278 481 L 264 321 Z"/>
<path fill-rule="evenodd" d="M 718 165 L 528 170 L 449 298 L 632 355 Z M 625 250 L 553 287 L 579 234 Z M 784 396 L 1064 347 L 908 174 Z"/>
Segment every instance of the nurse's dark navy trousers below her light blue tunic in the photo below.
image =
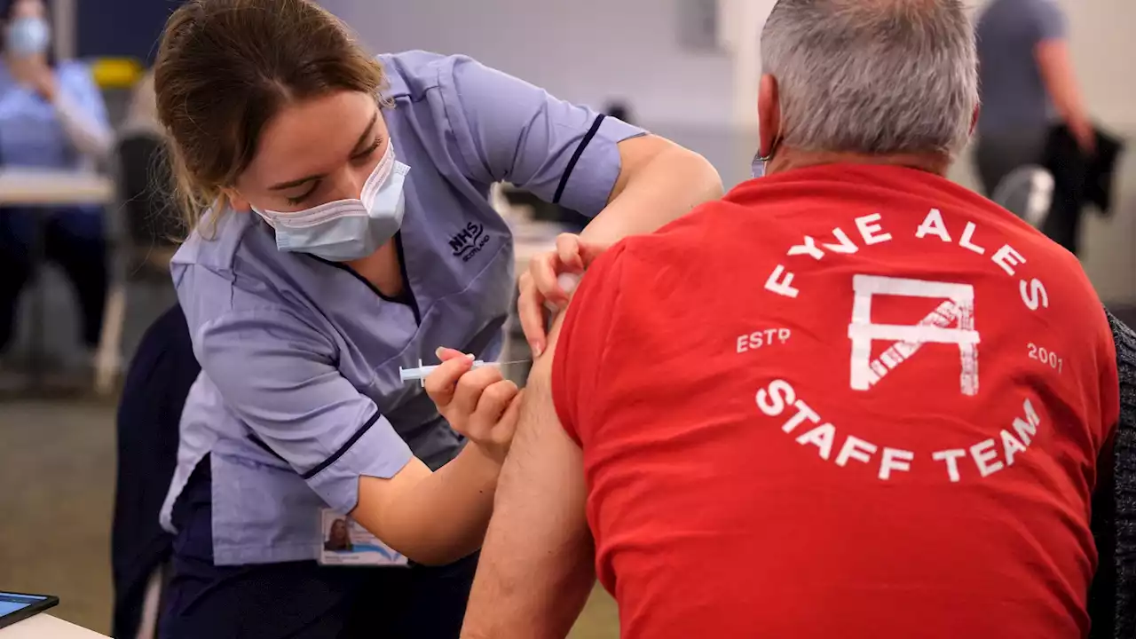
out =
<path fill-rule="evenodd" d="M 174 576 L 159 637 L 457 639 L 476 555 L 442 567 L 216 566 L 209 465 L 207 456 L 174 506 Z"/>

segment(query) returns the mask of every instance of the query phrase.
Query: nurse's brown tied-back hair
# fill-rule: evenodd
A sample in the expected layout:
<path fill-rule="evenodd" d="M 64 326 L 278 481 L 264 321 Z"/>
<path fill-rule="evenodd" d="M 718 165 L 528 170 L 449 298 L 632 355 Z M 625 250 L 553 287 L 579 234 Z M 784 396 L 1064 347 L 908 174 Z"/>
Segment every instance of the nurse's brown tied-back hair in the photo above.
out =
<path fill-rule="evenodd" d="M 209 207 L 224 210 L 223 189 L 252 161 L 284 106 L 337 91 L 377 96 L 384 77 L 346 25 L 309 0 L 179 7 L 158 48 L 154 93 L 185 232 Z"/>

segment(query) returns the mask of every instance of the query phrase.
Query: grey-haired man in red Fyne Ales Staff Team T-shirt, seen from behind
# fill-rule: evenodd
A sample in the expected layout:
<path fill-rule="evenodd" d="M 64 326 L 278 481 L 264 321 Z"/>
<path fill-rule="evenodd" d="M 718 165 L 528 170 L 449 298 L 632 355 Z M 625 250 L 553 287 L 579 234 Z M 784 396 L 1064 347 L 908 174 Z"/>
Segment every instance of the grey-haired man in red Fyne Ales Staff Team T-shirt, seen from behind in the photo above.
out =
<path fill-rule="evenodd" d="M 596 574 L 625 638 L 1087 636 L 1116 347 L 945 177 L 964 2 L 780 0 L 761 59 L 767 177 L 596 257 L 534 365 L 463 637 L 563 637 Z"/>

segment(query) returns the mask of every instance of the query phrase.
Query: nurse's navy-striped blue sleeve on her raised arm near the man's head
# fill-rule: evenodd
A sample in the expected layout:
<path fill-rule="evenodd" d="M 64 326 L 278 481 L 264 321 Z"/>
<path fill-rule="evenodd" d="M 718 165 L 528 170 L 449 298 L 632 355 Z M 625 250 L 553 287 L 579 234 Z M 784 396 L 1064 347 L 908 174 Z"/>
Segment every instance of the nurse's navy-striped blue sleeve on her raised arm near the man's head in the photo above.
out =
<path fill-rule="evenodd" d="M 465 57 L 438 84 L 467 177 L 511 182 L 590 217 L 619 176 L 619 142 L 644 133 Z"/>

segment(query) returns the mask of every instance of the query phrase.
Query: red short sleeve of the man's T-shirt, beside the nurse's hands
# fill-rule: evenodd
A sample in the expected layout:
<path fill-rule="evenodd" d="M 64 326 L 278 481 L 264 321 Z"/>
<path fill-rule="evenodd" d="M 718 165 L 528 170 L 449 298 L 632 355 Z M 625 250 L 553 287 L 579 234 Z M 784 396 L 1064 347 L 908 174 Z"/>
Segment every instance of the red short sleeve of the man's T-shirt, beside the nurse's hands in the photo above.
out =
<path fill-rule="evenodd" d="M 573 293 L 552 362 L 552 401 L 560 424 L 583 446 L 592 429 L 598 380 L 613 374 L 603 355 L 620 297 L 625 244 L 608 250 L 587 269 Z"/>

